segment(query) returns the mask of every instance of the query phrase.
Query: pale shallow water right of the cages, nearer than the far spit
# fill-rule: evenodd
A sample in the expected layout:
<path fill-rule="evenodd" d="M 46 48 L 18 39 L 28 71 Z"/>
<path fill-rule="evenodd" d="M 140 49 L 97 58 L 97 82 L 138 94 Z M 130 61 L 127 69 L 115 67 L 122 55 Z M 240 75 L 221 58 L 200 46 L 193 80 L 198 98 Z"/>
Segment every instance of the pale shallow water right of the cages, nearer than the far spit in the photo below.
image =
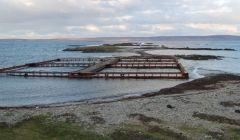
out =
<path fill-rule="evenodd" d="M 223 56 L 222 60 L 183 60 L 180 62 L 191 74 L 191 78 L 199 78 L 207 74 L 233 73 L 240 74 L 240 52 L 239 51 L 195 51 L 195 50 L 155 50 L 148 51 L 150 54 L 169 55 L 216 55 Z"/>

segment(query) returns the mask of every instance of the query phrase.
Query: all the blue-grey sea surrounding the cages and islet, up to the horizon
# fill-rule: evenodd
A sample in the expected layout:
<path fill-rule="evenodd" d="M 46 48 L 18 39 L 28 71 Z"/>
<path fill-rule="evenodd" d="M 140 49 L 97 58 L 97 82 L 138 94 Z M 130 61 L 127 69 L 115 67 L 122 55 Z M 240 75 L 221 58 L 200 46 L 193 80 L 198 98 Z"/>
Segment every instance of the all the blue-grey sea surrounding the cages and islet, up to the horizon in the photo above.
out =
<path fill-rule="evenodd" d="M 99 45 L 105 43 L 154 43 L 168 47 L 230 48 L 236 51 L 151 50 L 150 54 L 199 54 L 223 56 L 222 60 L 182 60 L 189 80 L 144 79 L 69 79 L 0 76 L 0 107 L 59 105 L 79 102 L 116 100 L 140 96 L 162 88 L 202 78 L 212 74 L 240 75 L 240 38 L 234 37 L 149 37 L 96 38 L 52 40 L 0 40 L 0 68 L 66 57 L 132 56 L 131 52 L 81 53 L 64 52 L 69 45 Z M 68 69 L 69 70 L 69 69 Z M 74 69 L 72 69 L 74 70 Z M 58 71 L 64 71 L 64 69 Z"/>

